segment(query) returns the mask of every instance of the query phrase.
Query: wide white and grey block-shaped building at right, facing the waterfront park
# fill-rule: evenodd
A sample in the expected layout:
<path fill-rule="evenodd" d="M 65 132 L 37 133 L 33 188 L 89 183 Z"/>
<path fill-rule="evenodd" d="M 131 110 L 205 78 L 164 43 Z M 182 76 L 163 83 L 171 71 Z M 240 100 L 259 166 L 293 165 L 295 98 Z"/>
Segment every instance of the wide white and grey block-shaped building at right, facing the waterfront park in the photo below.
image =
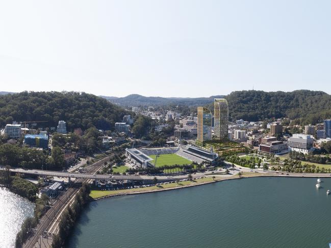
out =
<path fill-rule="evenodd" d="M 294 133 L 288 140 L 288 147 L 289 151 L 307 154 L 314 150 L 314 138 L 308 134 Z"/>

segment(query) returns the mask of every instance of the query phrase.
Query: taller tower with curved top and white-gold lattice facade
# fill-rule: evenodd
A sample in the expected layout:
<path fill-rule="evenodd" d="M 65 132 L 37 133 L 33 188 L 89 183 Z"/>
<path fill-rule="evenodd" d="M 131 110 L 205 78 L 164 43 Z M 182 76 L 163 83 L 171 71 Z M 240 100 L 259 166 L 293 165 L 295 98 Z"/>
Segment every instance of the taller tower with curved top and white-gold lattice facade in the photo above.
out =
<path fill-rule="evenodd" d="M 228 139 L 228 105 L 224 98 L 214 99 L 214 134 L 217 139 Z"/>

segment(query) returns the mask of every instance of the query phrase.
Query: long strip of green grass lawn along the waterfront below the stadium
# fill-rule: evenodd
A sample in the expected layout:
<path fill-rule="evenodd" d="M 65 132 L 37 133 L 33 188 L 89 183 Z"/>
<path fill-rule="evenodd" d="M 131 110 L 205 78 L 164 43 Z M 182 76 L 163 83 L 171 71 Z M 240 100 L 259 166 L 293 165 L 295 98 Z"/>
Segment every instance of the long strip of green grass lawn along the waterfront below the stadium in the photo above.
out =
<path fill-rule="evenodd" d="M 168 184 L 162 184 L 159 186 L 152 186 L 152 187 L 145 187 L 145 188 L 131 188 L 131 189 L 119 189 L 119 190 L 91 190 L 90 197 L 92 198 L 99 198 L 104 196 L 111 196 L 111 195 L 117 195 L 117 194 L 125 194 L 125 193 L 132 193 L 132 192 L 143 192 L 143 191 L 150 191 L 150 190 L 160 190 L 164 188 L 176 188 L 181 187 L 184 185 L 194 185 L 202 182 L 211 182 L 213 181 L 213 178 L 211 177 L 205 177 L 201 179 L 195 179 L 193 181 L 185 181 L 185 182 L 179 182 L 179 183 L 168 183 Z M 215 179 L 217 181 L 217 177 Z"/>

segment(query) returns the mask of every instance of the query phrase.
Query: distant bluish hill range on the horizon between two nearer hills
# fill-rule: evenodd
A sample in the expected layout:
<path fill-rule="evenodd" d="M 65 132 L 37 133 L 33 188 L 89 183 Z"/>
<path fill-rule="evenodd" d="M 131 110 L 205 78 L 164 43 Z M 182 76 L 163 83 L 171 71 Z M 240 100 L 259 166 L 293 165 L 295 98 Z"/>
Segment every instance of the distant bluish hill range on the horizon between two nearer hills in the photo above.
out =
<path fill-rule="evenodd" d="M 165 106 L 170 104 L 187 105 L 187 106 L 206 105 L 212 102 L 214 98 L 223 97 L 223 96 L 181 98 L 181 97 L 154 97 L 154 96 L 147 97 L 138 94 L 132 94 L 125 97 L 109 97 L 109 96 L 101 96 L 101 97 L 125 107 L 132 107 L 132 106 L 146 107 L 146 106 Z"/>

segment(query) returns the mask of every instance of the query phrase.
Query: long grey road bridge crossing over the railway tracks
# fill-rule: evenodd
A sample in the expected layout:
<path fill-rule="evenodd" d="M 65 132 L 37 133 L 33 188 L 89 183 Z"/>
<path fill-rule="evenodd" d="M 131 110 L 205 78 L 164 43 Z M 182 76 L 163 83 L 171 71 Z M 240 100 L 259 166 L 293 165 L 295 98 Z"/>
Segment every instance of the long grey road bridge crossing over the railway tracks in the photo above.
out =
<path fill-rule="evenodd" d="M 8 170 L 4 167 L 0 168 L 0 170 Z M 187 175 L 182 176 L 141 176 L 141 175 L 114 175 L 114 174 L 96 174 L 96 173 L 72 173 L 72 172 L 58 172 L 58 171 L 44 171 L 44 170 L 24 170 L 20 168 L 11 168 L 10 172 L 13 173 L 21 173 L 21 174 L 29 174 L 36 176 L 52 176 L 52 177 L 66 177 L 66 178 L 75 178 L 75 179 L 94 179 L 94 180 L 133 180 L 133 181 L 147 181 L 153 180 L 155 177 L 158 181 L 172 181 L 176 179 L 185 179 Z"/>

